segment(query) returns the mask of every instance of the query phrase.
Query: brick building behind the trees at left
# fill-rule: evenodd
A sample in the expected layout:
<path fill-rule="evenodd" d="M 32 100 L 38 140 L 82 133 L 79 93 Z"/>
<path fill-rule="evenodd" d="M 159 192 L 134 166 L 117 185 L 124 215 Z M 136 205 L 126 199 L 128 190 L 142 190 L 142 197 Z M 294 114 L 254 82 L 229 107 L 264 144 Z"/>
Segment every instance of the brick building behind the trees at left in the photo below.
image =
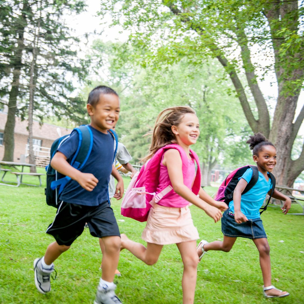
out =
<path fill-rule="evenodd" d="M 0 111 L 0 160 L 4 156 L 4 128 L 7 121 L 7 113 Z M 14 149 L 14 162 L 28 162 L 28 122 L 21 121 L 20 118 L 16 118 L 15 125 L 15 149 Z M 63 135 L 69 134 L 71 129 L 57 127 L 54 125 L 43 124 L 39 122 L 33 122 L 33 144 L 37 154 L 47 157 L 49 154 L 49 148 L 53 141 Z"/>

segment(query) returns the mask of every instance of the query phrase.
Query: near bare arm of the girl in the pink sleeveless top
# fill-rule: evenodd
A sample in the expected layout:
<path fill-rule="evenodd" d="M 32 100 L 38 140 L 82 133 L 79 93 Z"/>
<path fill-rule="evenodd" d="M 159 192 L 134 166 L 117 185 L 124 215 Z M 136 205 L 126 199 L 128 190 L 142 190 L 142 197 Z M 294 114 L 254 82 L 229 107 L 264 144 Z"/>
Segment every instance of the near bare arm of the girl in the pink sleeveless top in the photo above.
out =
<path fill-rule="evenodd" d="M 209 204 L 205 203 L 199 197 L 197 197 L 184 183 L 182 176 L 182 162 L 180 154 L 175 149 L 169 149 L 165 152 L 163 164 L 167 166 L 169 178 L 175 193 L 180 195 L 182 198 L 188 202 L 196 205 L 197 207 L 203 209 L 207 215 L 217 222 L 222 214 L 221 212 Z"/>

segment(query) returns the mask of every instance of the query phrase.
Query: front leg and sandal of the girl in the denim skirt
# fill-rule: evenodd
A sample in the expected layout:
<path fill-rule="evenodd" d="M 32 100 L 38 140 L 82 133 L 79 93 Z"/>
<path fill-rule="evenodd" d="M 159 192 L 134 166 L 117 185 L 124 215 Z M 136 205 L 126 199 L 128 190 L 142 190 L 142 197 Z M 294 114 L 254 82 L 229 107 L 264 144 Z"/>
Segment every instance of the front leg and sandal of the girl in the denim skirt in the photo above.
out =
<path fill-rule="evenodd" d="M 270 247 L 266 238 L 253 239 L 253 242 L 259 252 L 260 267 L 263 276 L 264 286 L 271 286 L 271 262 L 270 262 Z M 268 295 L 281 295 L 287 293 L 286 291 L 278 291 L 276 289 L 269 289 L 265 291 Z"/>

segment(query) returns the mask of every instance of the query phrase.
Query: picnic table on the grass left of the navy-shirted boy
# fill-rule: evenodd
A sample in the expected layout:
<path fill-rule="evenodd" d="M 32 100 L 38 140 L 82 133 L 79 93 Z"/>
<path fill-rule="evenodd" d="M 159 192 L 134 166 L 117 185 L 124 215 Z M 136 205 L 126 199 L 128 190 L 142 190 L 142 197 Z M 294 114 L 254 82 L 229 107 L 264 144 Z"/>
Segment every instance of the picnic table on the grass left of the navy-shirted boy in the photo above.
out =
<path fill-rule="evenodd" d="M 3 169 L 3 168 L 1 168 L 1 166 L 8 166 L 8 167 L 21 166 L 21 172 L 12 172 L 11 169 Z M 40 187 L 42 185 L 41 176 L 44 175 L 43 173 L 27 173 L 27 172 L 23 172 L 24 167 L 34 167 L 34 166 L 35 166 L 34 164 L 0 161 L 0 172 L 3 172 L 3 175 L 2 175 L 2 178 L 1 178 L 2 182 L 0 183 L 0 185 L 6 185 L 6 186 L 11 186 L 11 187 L 19 187 L 20 184 L 24 184 L 24 185 L 28 185 L 28 186 L 37 186 L 37 185 L 34 185 L 34 184 L 29 184 L 29 183 L 22 182 L 22 177 L 24 175 L 27 175 L 27 176 L 37 176 L 39 178 L 39 182 L 40 182 L 39 187 Z M 14 184 L 13 185 L 8 184 L 9 181 L 4 180 L 4 177 L 5 177 L 5 175 L 8 172 L 11 173 L 11 174 L 14 174 L 16 176 L 16 178 L 17 178 L 16 185 L 14 185 Z"/>

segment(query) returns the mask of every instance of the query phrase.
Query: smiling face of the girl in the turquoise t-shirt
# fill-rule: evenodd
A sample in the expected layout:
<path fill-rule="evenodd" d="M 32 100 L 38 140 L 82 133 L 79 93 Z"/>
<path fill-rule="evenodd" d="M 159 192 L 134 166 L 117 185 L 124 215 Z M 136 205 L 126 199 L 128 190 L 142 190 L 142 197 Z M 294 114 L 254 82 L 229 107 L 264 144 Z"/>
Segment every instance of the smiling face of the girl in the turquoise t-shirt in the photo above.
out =
<path fill-rule="evenodd" d="M 277 164 L 277 149 L 272 145 L 264 145 L 258 156 L 253 156 L 253 160 L 260 172 L 272 172 Z"/>

